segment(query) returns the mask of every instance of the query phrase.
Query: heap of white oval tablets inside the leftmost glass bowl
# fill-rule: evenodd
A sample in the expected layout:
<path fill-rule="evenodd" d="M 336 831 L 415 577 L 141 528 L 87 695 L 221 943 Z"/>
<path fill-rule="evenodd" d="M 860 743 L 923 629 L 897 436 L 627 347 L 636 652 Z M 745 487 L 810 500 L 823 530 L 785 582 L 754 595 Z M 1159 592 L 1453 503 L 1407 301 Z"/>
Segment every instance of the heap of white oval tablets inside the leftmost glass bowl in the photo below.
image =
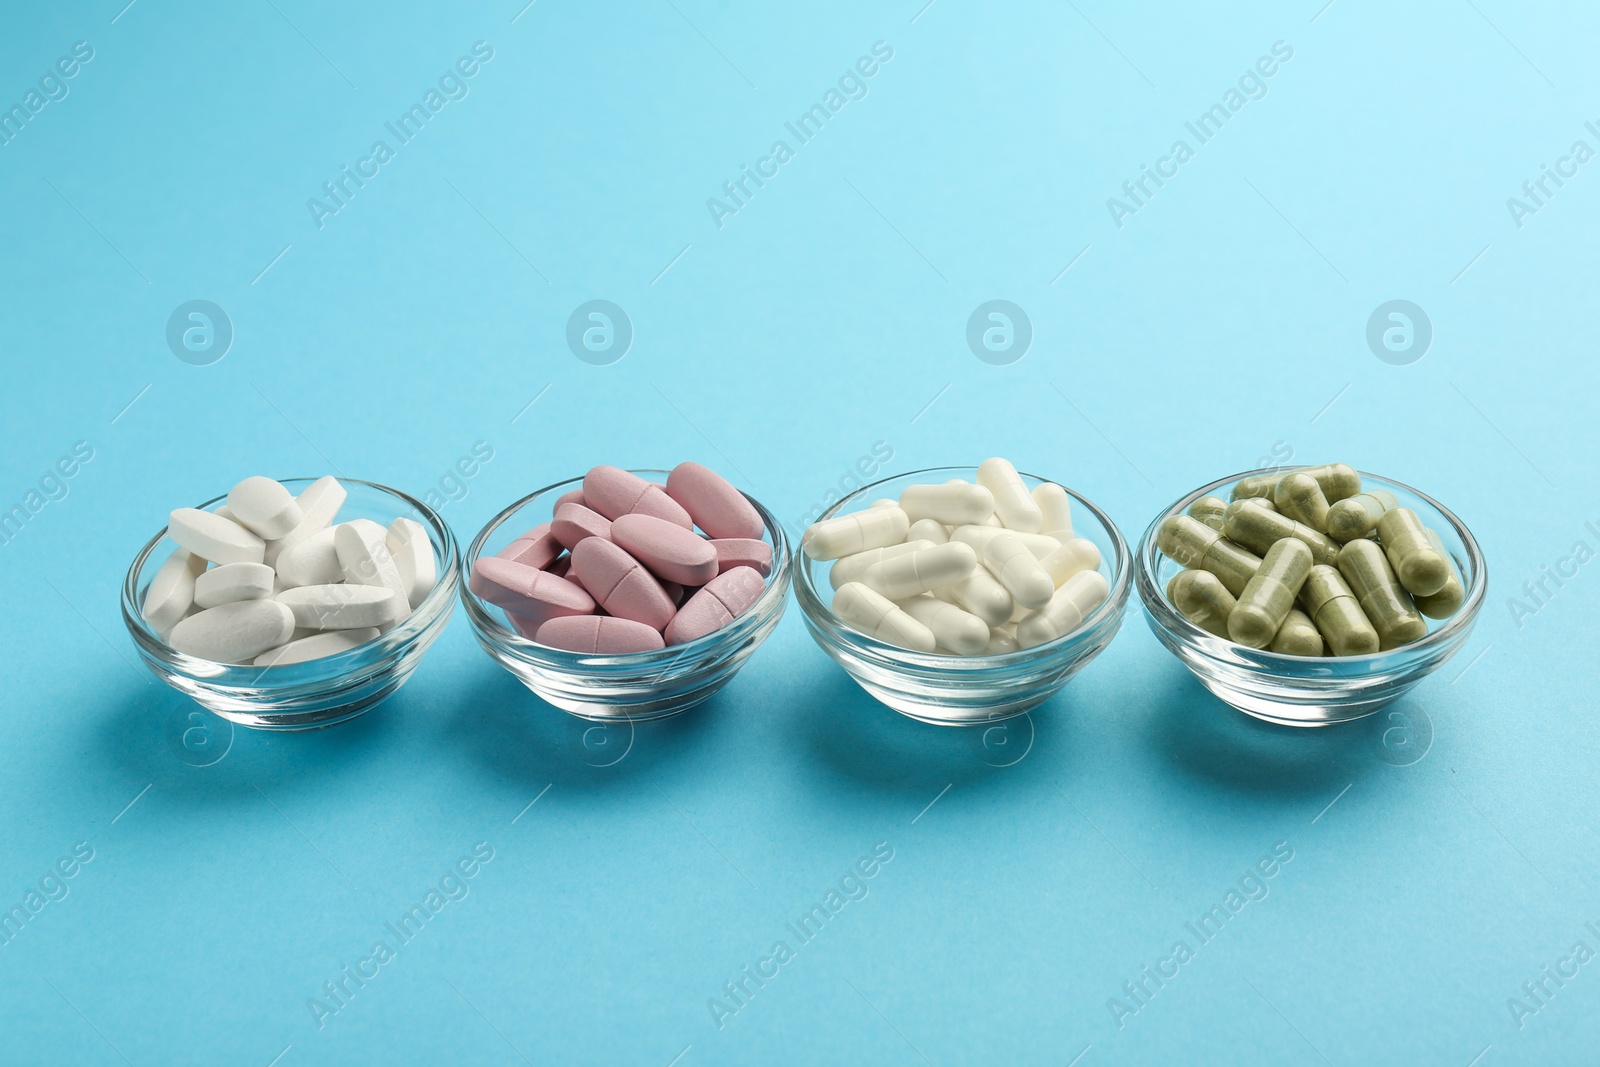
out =
<path fill-rule="evenodd" d="M 334 523 L 346 490 L 323 477 L 299 496 L 245 478 L 214 512 L 179 507 L 178 549 L 144 597 L 144 621 L 186 656 L 280 667 L 365 645 L 434 589 L 434 542 L 414 518 Z"/>

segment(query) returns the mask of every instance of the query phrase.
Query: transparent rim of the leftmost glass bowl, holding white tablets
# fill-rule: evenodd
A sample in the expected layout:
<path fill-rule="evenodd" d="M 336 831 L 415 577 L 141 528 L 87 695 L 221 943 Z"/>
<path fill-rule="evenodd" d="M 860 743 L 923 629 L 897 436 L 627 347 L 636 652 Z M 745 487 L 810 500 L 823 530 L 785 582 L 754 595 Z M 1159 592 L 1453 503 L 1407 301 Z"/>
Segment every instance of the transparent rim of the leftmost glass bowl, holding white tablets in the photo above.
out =
<path fill-rule="evenodd" d="M 278 478 L 277 482 L 293 491 L 296 486 L 304 488 L 315 480 L 317 477 L 293 477 Z M 339 477 L 339 483 L 346 486 L 374 490 L 379 494 L 390 496 L 414 509 L 416 514 L 422 517 L 434 544 L 440 549 L 442 561 L 434 589 L 429 590 L 427 597 L 422 598 L 422 603 L 418 605 L 405 617 L 405 621 L 392 630 L 379 633 L 365 645 L 357 645 L 355 648 L 334 653 L 333 656 L 322 656 L 318 659 L 309 659 L 298 664 L 256 667 L 253 664 L 221 664 L 211 659 L 187 656 L 163 641 L 160 633 L 150 629 L 150 624 L 146 622 L 144 613 L 141 611 L 139 577 L 144 573 L 150 555 L 155 553 L 157 549 L 160 549 L 162 541 L 166 539 L 168 528 L 162 526 L 162 530 L 157 531 L 157 534 L 150 537 L 134 555 L 122 584 L 122 617 L 139 651 L 144 656 L 162 662 L 174 673 L 203 680 L 208 686 L 256 689 L 272 688 L 275 685 L 296 686 L 317 683 L 331 677 L 341 677 L 357 669 L 366 669 L 374 673 L 381 672 L 386 667 L 387 659 L 403 653 L 418 637 L 432 630 L 442 617 L 448 617 L 450 611 L 454 608 L 456 585 L 461 582 L 461 553 L 456 545 L 454 534 L 438 512 L 410 493 L 379 482 Z M 213 496 L 195 507 L 211 510 L 213 506 L 222 504 L 224 501 L 227 501 L 226 493 Z"/>

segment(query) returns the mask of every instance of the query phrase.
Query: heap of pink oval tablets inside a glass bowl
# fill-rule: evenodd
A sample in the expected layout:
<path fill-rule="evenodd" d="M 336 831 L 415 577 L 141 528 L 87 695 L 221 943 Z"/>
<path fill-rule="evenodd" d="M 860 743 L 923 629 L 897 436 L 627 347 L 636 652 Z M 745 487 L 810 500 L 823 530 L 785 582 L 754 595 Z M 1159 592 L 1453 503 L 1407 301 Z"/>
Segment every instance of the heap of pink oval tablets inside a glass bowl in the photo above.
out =
<path fill-rule="evenodd" d="M 595 467 L 550 522 L 478 558 L 467 587 L 539 645 L 643 653 L 744 614 L 773 568 L 765 533 L 750 501 L 698 462 L 674 467 L 666 485 Z"/>

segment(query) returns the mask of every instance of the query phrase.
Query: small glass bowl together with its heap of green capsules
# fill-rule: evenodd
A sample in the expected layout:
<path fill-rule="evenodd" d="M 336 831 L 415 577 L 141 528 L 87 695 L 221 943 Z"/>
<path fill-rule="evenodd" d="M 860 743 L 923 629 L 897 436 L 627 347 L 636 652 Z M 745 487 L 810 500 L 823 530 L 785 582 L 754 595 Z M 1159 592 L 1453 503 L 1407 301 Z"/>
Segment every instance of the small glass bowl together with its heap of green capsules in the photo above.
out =
<path fill-rule="evenodd" d="M 1229 707 L 1285 726 L 1410 693 L 1466 645 L 1488 587 L 1450 509 L 1347 464 L 1203 485 L 1150 523 L 1136 563 L 1162 645 Z"/>

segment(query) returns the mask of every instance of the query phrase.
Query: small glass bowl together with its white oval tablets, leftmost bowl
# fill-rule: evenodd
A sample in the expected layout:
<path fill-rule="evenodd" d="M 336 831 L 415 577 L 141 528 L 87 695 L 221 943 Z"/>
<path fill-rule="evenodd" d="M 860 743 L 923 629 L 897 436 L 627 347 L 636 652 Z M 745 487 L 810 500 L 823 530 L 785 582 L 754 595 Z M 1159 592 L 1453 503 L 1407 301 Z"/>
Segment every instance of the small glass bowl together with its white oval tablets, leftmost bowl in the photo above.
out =
<path fill-rule="evenodd" d="M 258 729 L 331 726 L 392 696 L 461 582 L 422 501 L 355 478 L 240 482 L 134 557 L 122 616 L 157 678 Z"/>

